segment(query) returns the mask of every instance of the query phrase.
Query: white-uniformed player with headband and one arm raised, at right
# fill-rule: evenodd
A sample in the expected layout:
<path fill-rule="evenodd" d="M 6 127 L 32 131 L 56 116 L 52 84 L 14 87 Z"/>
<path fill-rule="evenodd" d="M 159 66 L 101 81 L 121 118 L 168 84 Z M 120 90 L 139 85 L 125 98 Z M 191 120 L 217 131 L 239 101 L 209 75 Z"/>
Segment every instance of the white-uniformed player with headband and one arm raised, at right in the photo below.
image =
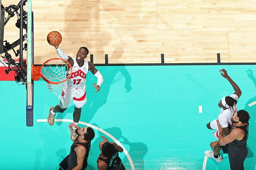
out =
<path fill-rule="evenodd" d="M 230 133 L 230 125 L 232 124 L 232 116 L 234 116 L 237 112 L 237 100 L 241 96 L 242 92 L 238 85 L 228 76 L 228 73 L 225 69 L 220 70 L 221 75 L 230 82 L 232 87 L 234 88 L 234 93 L 230 96 L 223 97 L 220 101 L 218 106 L 221 109 L 221 112 L 219 113 L 218 120 L 219 123 L 222 125 L 223 132 L 225 135 L 228 135 Z M 208 129 L 214 129 L 216 130 L 213 135 L 215 138 L 219 138 L 219 128 L 217 125 L 217 119 L 209 122 L 206 127 Z"/>

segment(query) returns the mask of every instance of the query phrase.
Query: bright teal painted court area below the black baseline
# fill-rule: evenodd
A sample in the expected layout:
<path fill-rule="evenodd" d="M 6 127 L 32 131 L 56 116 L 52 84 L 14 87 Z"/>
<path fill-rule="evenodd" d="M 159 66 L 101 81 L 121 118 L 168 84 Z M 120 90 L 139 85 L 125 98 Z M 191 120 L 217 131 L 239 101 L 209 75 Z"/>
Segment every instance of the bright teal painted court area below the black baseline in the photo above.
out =
<path fill-rule="evenodd" d="M 92 124 L 118 140 L 128 151 L 136 170 L 202 170 L 204 151 L 216 139 L 206 124 L 218 118 L 218 102 L 234 93 L 221 76 L 225 69 L 242 91 L 238 109 L 250 113 L 248 155 L 245 170 L 256 170 L 256 67 L 255 65 L 186 66 L 97 66 L 104 77 L 95 93 L 97 78 L 87 74 L 87 104 L 81 122 Z M 34 82 L 34 126 L 26 126 L 25 85 L 0 82 L 1 170 L 58 170 L 69 154 L 69 122 L 47 122 L 50 106 L 59 98 L 49 92 L 41 79 Z M 199 113 L 202 106 L 202 113 Z M 73 119 L 71 102 L 56 119 Z M 78 124 L 84 127 L 83 124 Z M 100 136 L 97 129 L 92 141 L 87 170 L 97 169 Z M 221 152 L 223 155 L 223 152 Z M 131 164 L 124 152 L 119 154 L 127 170 Z M 221 163 L 208 158 L 206 170 L 228 170 L 228 155 Z"/>

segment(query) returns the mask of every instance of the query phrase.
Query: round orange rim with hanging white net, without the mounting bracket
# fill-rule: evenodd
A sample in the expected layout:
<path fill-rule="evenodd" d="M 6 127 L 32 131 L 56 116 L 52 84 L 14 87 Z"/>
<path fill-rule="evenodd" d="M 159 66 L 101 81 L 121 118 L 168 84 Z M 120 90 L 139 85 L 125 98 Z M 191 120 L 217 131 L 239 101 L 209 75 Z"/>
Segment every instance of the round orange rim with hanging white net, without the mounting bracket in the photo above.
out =
<path fill-rule="evenodd" d="M 54 59 L 47 61 L 42 68 L 42 75 L 50 81 L 46 83 L 46 87 L 57 96 L 61 95 L 63 86 L 66 84 L 65 80 L 72 73 L 68 65 L 61 59 Z"/>

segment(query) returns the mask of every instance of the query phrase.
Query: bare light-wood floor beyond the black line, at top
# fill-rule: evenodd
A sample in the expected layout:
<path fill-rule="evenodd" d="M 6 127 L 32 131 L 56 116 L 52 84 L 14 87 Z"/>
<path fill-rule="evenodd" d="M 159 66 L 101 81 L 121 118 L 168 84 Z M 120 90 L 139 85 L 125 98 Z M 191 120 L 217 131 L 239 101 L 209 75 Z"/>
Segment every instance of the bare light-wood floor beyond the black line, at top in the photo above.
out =
<path fill-rule="evenodd" d="M 95 64 L 105 54 L 118 64 L 161 63 L 161 54 L 165 63 L 216 63 L 217 53 L 222 63 L 256 62 L 254 0 L 32 0 L 32 10 L 35 64 L 56 57 L 46 40 L 53 30 L 67 55 L 87 46 Z M 16 21 L 5 26 L 10 43 L 19 39 Z"/>

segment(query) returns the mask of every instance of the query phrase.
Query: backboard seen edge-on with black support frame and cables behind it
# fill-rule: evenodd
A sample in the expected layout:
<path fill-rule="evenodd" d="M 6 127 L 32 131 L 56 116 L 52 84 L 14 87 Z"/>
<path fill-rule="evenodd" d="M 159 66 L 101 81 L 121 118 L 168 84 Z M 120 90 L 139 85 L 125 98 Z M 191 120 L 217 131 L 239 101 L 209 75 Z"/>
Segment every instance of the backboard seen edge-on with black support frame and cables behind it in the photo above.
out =
<path fill-rule="evenodd" d="M 27 3 L 27 15 L 23 7 Z M 0 54 L 4 53 L 2 56 L 6 60 L 9 69 L 5 70 L 8 74 L 9 71 L 14 71 L 14 79 L 16 82 L 22 82 L 26 85 L 27 90 L 27 105 L 26 105 L 26 124 L 27 126 L 33 126 L 33 100 L 34 100 L 34 81 L 31 80 L 31 65 L 34 62 L 34 52 L 33 52 L 33 13 L 31 11 L 31 0 L 20 0 L 18 5 L 10 5 L 8 9 L 7 19 L 4 16 L 5 8 L 2 5 L 2 0 L 0 0 Z M 18 10 L 20 10 L 19 13 Z M 3 30 L 5 24 L 12 18 L 12 15 L 17 13 L 19 15 L 19 24 L 16 23 L 16 27 L 20 28 L 20 39 L 16 40 L 14 43 L 8 46 L 3 45 Z M 18 25 L 18 26 L 17 26 Z M 27 27 L 26 27 L 27 25 Z M 27 33 L 23 34 L 23 30 Z M 25 32 L 25 31 L 24 31 Z M 27 43 L 23 44 L 23 41 L 27 39 Z M 19 50 L 17 53 L 14 48 L 19 45 Z M 8 53 L 9 50 L 13 50 L 16 57 L 19 56 L 18 63 L 12 59 L 12 55 Z M 27 50 L 27 60 L 23 59 L 23 51 Z M 25 63 L 27 61 L 27 63 Z"/>

